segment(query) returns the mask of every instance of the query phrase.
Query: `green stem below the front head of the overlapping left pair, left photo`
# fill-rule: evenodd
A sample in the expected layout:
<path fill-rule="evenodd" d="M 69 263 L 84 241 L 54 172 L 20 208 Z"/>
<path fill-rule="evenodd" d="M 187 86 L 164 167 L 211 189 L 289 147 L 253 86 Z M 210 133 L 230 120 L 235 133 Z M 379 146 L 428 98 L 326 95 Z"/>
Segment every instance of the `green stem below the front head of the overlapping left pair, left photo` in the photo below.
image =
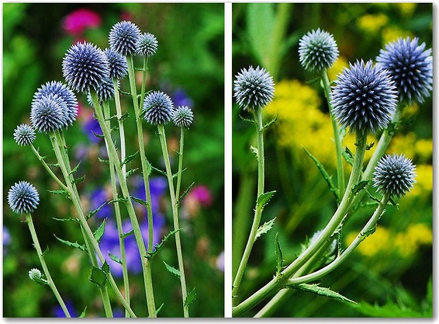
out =
<path fill-rule="evenodd" d="M 96 251 L 100 262 L 102 262 L 102 264 L 104 264 L 104 262 L 105 262 L 104 255 L 102 255 L 102 251 L 99 248 L 99 244 L 97 243 L 95 237 L 93 236 L 93 232 L 91 231 L 90 226 L 88 226 L 87 220 L 84 216 L 84 213 L 82 212 L 80 198 L 76 194 L 77 190 L 73 189 L 73 185 L 71 182 L 69 171 L 67 169 L 66 163 L 64 163 L 65 158 L 63 157 L 63 155 L 64 155 L 63 152 L 64 152 L 65 145 L 63 146 L 63 150 L 61 150 L 61 146 L 62 146 L 61 141 L 62 140 L 58 141 L 59 135 L 57 136 L 56 132 L 49 133 L 49 137 L 50 137 L 52 146 L 54 147 L 56 158 L 58 159 L 58 164 L 60 165 L 60 169 L 61 169 L 61 172 L 64 176 L 64 180 L 67 183 L 67 188 L 68 188 L 69 194 L 71 196 L 73 207 L 75 207 L 75 211 L 78 214 L 78 218 L 79 218 L 80 224 L 81 224 L 81 229 L 82 229 L 83 235 L 84 235 L 84 241 L 86 242 L 87 246 L 88 246 L 88 244 L 91 244 L 91 248 L 88 248 L 88 254 L 93 255 L 94 254 L 93 250 Z M 91 257 L 91 260 L 93 263 L 92 257 Z M 132 317 L 137 317 L 136 314 L 134 314 L 134 312 L 131 310 L 130 305 L 128 305 L 126 300 L 123 298 L 121 292 L 119 291 L 119 288 L 117 288 L 117 283 L 116 283 L 115 279 L 112 277 L 111 273 L 108 273 L 107 275 L 108 275 L 108 281 L 110 282 L 112 290 L 114 290 L 114 292 L 117 296 L 117 299 L 119 299 L 119 301 L 122 303 L 123 307 L 126 308 L 126 310 L 128 310 L 128 312 L 130 312 L 130 315 Z"/>

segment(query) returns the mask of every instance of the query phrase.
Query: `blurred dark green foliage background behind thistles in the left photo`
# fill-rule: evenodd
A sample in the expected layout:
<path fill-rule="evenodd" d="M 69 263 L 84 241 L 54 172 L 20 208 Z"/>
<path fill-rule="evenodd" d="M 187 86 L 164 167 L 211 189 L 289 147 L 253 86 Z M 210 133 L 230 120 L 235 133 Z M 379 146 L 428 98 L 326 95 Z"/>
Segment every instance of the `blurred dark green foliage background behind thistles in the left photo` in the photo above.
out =
<path fill-rule="evenodd" d="M 102 25 L 89 28 L 77 38 L 62 28 L 62 22 L 79 8 L 93 10 Z M 60 196 L 47 193 L 56 184 L 38 163 L 29 148 L 14 142 L 12 133 L 17 124 L 29 122 L 32 95 L 50 80 L 62 81 L 61 62 L 65 51 L 78 39 L 85 39 L 99 47 L 108 46 L 108 32 L 112 25 L 130 19 L 143 32 L 151 32 L 158 39 L 158 51 L 149 60 L 147 89 L 173 93 L 181 90 L 193 102 L 194 124 L 185 136 L 187 170 L 182 178 L 182 190 L 192 181 L 204 185 L 211 192 L 213 203 L 192 212 L 182 220 L 183 254 L 187 266 L 187 286 L 195 287 L 196 301 L 191 305 L 191 316 L 223 316 L 224 274 L 217 268 L 217 257 L 224 250 L 224 5 L 222 3 L 4 3 L 3 4 L 3 226 L 8 228 L 11 242 L 3 254 L 3 316 L 54 316 L 56 299 L 47 287 L 33 283 L 27 277 L 29 268 L 38 266 L 38 259 L 27 228 L 19 216 L 12 214 L 7 204 L 8 188 L 16 181 L 34 183 L 40 192 L 40 206 L 34 222 L 42 246 L 49 246 L 47 264 L 64 299 L 71 301 L 77 314 L 87 306 L 88 316 L 103 316 L 97 289 L 88 281 L 88 257 L 57 242 L 60 238 L 81 240 L 76 224 L 56 222 L 52 217 L 73 213 L 71 206 Z M 141 59 L 135 61 L 141 66 Z M 128 80 L 121 89 L 128 90 Z M 91 112 L 86 97 L 78 95 L 82 110 Z M 130 97 L 122 97 L 124 111 L 132 105 Z M 131 114 L 134 115 L 134 114 Z M 134 117 L 126 119 L 128 152 L 136 150 Z M 85 197 L 93 189 L 106 185 L 108 169 L 97 162 L 102 151 L 91 143 L 82 130 L 78 117 L 65 136 L 71 145 L 70 156 L 86 148 L 88 159 L 82 161 L 86 181 L 80 184 Z M 156 167 L 163 165 L 158 137 L 152 126 L 145 123 L 147 157 Z M 167 138 L 174 159 L 178 156 L 179 130 L 167 128 Z M 54 163 L 49 139 L 38 135 L 35 146 Z M 135 161 L 130 167 L 140 167 Z M 215 176 L 212 176 L 215 174 Z M 172 229 L 169 198 L 165 198 L 167 224 Z M 96 224 L 92 224 L 96 226 Z M 6 250 L 4 249 L 3 252 Z M 158 306 L 164 303 L 160 316 L 182 316 L 180 284 L 167 273 L 162 259 L 175 262 L 174 241 L 163 249 L 161 259 L 153 266 L 154 292 Z M 138 316 L 145 316 L 145 297 L 141 275 L 132 279 L 132 307 Z M 110 292 L 112 304 L 117 299 Z M 120 306 L 118 306 L 120 308 Z"/>

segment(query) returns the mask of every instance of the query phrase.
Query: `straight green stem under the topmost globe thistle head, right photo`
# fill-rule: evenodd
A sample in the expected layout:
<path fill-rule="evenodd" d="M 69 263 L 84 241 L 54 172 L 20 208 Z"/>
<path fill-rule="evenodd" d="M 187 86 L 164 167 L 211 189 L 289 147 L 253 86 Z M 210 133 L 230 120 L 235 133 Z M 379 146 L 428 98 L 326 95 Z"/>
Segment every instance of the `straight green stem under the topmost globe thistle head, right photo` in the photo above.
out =
<path fill-rule="evenodd" d="M 333 106 L 331 103 L 331 83 L 329 82 L 327 71 L 322 72 L 322 86 L 324 90 L 324 96 L 327 98 L 329 106 L 329 116 L 331 117 L 331 123 L 334 133 L 335 152 L 337 155 L 337 187 L 339 196 L 342 196 L 344 192 L 344 170 L 343 170 L 343 157 L 342 157 L 342 141 L 340 140 L 340 128 L 338 128 L 337 122 L 333 115 Z"/>

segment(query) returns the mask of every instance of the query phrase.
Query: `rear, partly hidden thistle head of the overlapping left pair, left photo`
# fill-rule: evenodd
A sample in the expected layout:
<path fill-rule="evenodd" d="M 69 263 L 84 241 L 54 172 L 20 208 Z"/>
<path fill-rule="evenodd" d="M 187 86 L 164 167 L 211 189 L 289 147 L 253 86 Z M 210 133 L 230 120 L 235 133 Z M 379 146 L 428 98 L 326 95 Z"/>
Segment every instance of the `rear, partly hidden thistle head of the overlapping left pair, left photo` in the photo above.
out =
<path fill-rule="evenodd" d="M 34 93 L 32 103 L 40 100 L 47 95 L 58 95 L 64 100 L 65 105 L 62 105 L 62 115 L 65 117 L 66 127 L 75 122 L 78 117 L 78 100 L 76 95 L 65 84 L 58 81 L 46 82 Z"/>

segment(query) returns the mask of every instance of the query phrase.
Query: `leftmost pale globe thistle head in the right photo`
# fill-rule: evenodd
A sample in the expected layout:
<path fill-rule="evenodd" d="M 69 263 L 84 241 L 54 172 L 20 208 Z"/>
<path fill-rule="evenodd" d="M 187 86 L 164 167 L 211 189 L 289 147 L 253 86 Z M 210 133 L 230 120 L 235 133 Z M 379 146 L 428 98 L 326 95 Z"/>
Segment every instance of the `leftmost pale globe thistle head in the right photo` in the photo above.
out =
<path fill-rule="evenodd" d="M 274 97 L 274 82 L 264 68 L 241 69 L 235 76 L 235 93 L 239 107 L 252 111 L 269 104 Z"/>

